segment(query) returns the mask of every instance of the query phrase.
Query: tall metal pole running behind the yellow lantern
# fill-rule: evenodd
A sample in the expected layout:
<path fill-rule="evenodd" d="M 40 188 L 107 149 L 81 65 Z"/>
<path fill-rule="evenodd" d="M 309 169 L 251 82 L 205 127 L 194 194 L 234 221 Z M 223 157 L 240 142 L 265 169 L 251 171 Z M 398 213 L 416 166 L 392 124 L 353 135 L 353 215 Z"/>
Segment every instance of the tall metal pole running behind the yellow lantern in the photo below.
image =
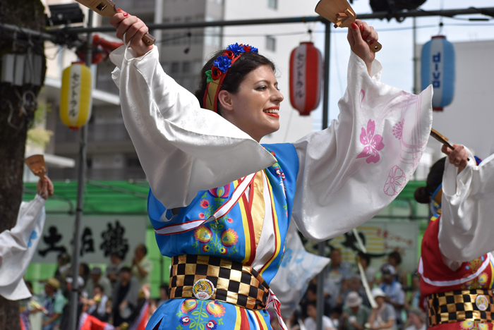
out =
<path fill-rule="evenodd" d="M 92 11 L 88 14 L 88 25 L 92 26 Z M 88 49 L 86 49 L 85 62 L 87 66 L 91 66 L 92 60 L 92 35 L 88 32 Z M 90 105 L 91 106 L 91 105 Z M 80 130 L 80 147 L 79 147 L 79 173 L 77 186 L 77 208 L 76 208 L 76 224 L 74 224 L 73 236 L 73 261 L 72 261 L 72 292 L 71 292 L 71 330 L 77 330 L 78 319 L 78 276 L 79 276 L 79 254 L 80 254 L 80 221 L 83 216 L 84 202 L 84 185 L 86 180 L 86 145 L 88 145 L 88 125 L 85 125 Z"/>

